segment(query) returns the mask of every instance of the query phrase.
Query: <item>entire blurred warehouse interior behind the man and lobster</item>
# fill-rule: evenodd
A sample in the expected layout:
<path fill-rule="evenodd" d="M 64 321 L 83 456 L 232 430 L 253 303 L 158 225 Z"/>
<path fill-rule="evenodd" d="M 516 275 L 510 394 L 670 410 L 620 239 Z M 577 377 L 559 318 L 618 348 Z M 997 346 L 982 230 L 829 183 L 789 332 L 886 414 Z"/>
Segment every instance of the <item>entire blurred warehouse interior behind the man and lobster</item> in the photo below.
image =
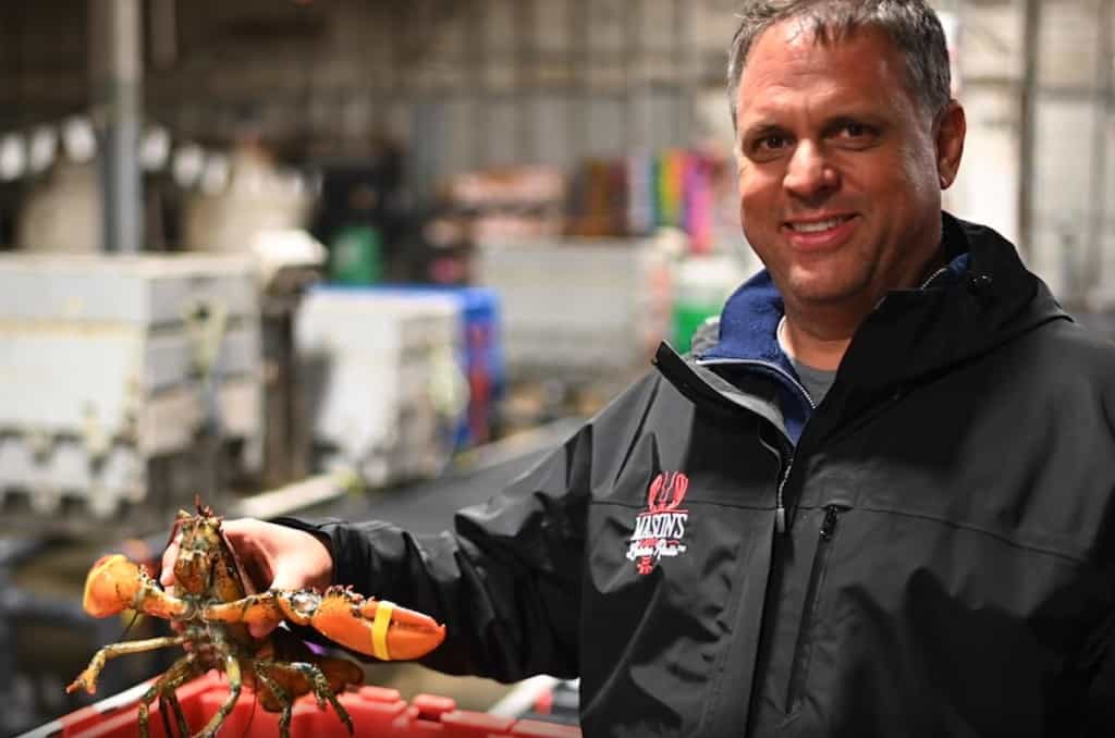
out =
<path fill-rule="evenodd" d="M 1115 334 L 1115 0 L 932 4 L 968 110 L 948 208 Z M 129 621 L 81 614 L 85 572 L 155 561 L 195 495 L 434 533 L 688 349 L 758 269 L 736 7 L 3 3 L 0 735 L 91 701 L 64 686 Z"/>

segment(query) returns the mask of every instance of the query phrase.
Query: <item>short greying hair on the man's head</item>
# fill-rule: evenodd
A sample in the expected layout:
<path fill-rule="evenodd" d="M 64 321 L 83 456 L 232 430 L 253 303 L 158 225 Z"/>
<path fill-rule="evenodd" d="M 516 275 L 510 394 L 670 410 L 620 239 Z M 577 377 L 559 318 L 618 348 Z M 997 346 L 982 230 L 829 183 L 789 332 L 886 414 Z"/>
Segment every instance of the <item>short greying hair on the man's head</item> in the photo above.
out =
<path fill-rule="evenodd" d="M 860 28 L 878 28 L 905 59 L 906 85 L 935 116 L 951 99 L 949 50 L 937 13 L 923 0 L 748 0 L 728 56 L 728 103 L 736 127 L 736 96 L 755 40 L 784 20 L 796 20 L 817 43 L 838 41 Z"/>

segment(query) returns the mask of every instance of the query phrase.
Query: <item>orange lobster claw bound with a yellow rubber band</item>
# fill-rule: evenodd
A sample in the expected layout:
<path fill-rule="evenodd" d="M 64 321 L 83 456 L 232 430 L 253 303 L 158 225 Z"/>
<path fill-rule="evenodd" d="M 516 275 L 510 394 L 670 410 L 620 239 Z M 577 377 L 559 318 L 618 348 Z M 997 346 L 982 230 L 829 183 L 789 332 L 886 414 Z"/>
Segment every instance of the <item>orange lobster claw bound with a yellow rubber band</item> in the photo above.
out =
<path fill-rule="evenodd" d="M 331 586 L 319 602 L 306 608 L 307 593 L 280 595 L 284 611 L 299 609 L 308 623 L 326 638 L 377 659 L 418 659 L 442 644 L 445 625 L 429 615 L 386 600 L 365 599 L 350 590 Z"/>

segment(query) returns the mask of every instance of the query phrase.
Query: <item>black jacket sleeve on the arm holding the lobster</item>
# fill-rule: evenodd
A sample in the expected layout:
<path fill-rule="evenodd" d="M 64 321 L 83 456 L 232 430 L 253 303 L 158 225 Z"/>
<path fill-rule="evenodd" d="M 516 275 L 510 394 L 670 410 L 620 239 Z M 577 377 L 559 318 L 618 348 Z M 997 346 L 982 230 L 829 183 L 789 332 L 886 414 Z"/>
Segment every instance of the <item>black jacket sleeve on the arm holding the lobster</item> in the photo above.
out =
<path fill-rule="evenodd" d="M 578 674 L 592 424 L 454 530 L 417 537 L 386 522 L 293 518 L 333 553 L 337 584 L 425 612 L 446 640 L 421 662 L 513 681 Z"/>

